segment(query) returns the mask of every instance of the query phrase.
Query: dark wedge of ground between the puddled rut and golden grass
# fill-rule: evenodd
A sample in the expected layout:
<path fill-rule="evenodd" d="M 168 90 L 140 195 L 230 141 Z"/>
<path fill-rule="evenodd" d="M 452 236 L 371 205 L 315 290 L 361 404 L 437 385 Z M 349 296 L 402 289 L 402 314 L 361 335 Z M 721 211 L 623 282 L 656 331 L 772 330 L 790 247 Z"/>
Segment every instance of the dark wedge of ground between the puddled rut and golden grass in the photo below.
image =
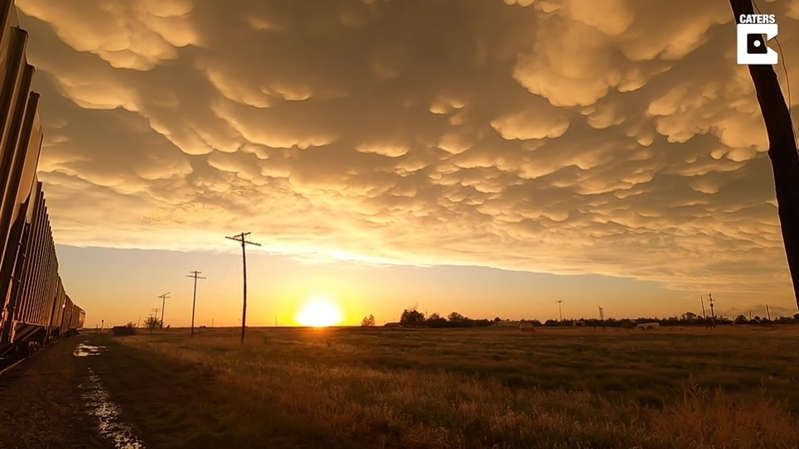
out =
<path fill-rule="evenodd" d="M 346 449 L 346 441 L 318 433 L 305 420 L 286 416 L 249 389 L 221 382 L 211 370 L 90 336 L 107 346 L 91 359 L 119 421 L 134 425 L 147 448 Z"/>

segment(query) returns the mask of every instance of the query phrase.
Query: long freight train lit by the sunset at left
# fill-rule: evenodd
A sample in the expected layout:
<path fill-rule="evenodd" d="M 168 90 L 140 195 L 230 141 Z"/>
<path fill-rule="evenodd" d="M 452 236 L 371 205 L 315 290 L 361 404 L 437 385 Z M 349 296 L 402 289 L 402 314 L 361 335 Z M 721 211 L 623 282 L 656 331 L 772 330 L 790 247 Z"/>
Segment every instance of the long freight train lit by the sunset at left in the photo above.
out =
<path fill-rule="evenodd" d="M 42 127 L 27 62 L 28 33 L 13 0 L 0 0 L 0 364 L 83 327 L 64 291 L 42 183 Z"/>

